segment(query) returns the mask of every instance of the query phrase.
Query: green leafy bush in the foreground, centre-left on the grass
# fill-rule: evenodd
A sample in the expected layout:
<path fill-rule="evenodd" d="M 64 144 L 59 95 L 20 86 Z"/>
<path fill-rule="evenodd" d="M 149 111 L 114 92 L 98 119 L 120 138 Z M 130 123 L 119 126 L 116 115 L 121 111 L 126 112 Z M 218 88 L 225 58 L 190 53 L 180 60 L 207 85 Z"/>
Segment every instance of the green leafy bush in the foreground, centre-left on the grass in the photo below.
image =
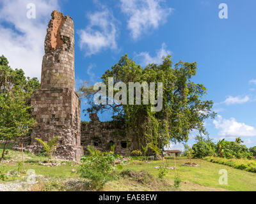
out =
<path fill-rule="evenodd" d="M 79 172 L 81 177 L 90 180 L 93 189 L 100 190 L 108 180 L 114 178 L 113 170 L 116 167 L 122 168 L 121 164 L 115 164 L 116 159 L 122 164 L 124 164 L 124 160 L 113 152 L 100 152 L 90 145 L 88 151 L 90 154 L 81 158 L 82 164 Z"/>

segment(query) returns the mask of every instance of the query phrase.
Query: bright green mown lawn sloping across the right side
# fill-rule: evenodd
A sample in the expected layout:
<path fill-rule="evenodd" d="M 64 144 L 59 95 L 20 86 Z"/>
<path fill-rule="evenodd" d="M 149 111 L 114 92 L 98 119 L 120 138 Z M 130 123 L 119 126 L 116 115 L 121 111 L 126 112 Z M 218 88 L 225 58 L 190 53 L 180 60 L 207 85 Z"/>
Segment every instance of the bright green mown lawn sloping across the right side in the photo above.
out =
<path fill-rule="evenodd" d="M 256 191 L 256 173 L 237 170 L 222 164 L 210 163 L 200 159 L 192 159 L 193 163 L 201 164 L 201 167 L 182 166 L 188 163 L 189 159 L 177 159 L 177 172 L 182 182 L 191 182 L 207 187 L 223 188 L 230 191 Z M 133 164 L 132 164 L 133 163 Z M 168 166 L 174 166 L 174 159 L 168 159 Z M 161 165 L 161 161 L 152 163 L 131 162 L 129 166 L 134 171 L 146 170 L 157 177 L 158 170 L 155 166 Z M 219 171 L 228 171 L 228 185 L 219 184 Z M 168 170 L 166 179 L 174 179 L 175 170 Z"/>

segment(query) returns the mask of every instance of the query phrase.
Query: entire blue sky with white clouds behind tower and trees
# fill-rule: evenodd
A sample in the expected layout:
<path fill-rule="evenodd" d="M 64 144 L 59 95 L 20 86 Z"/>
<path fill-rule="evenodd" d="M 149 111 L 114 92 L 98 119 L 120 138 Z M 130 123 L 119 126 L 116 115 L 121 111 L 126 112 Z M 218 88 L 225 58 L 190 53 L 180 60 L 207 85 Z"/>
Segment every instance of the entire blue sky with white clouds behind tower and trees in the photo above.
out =
<path fill-rule="evenodd" d="M 28 3 L 36 6 L 35 19 L 26 17 Z M 219 18 L 220 3 L 228 6 L 227 19 Z M 256 145 L 255 8 L 253 0 L 0 0 L 0 54 L 12 68 L 40 78 L 47 23 L 51 11 L 60 10 L 75 24 L 77 87 L 83 80 L 99 82 L 126 53 L 143 66 L 167 54 L 173 62 L 196 61 L 194 81 L 207 87 L 218 113 L 205 124 L 211 138 L 241 136 L 251 147 Z M 82 119 L 88 116 L 82 113 Z M 100 115 L 108 119 L 108 113 Z"/>

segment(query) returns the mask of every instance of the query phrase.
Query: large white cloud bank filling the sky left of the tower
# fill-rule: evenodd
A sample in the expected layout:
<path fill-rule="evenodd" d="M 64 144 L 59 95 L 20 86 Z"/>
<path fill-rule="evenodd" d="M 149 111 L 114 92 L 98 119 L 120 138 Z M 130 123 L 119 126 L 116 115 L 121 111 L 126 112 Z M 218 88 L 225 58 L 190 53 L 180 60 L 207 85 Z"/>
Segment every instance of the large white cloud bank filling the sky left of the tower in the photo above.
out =
<path fill-rule="evenodd" d="M 36 6 L 36 18 L 27 18 L 27 4 Z M 0 3 L 0 55 L 28 77 L 41 75 L 44 39 L 58 0 L 2 0 Z"/>

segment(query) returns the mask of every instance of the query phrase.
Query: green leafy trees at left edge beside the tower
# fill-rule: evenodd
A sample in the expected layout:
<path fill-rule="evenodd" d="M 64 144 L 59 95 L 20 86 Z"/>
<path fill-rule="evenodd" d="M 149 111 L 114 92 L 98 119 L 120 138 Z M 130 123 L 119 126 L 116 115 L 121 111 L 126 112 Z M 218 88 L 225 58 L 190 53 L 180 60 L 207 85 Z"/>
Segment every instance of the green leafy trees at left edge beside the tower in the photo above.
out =
<path fill-rule="evenodd" d="M 37 78 L 26 78 L 22 69 L 13 70 L 3 55 L 0 57 L 0 140 L 6 144 L 26 136 L 35 125 L 31 117 L 31 94 L 40 87 Z M 0 160 L 1 160 L 0 159 Z"/>

